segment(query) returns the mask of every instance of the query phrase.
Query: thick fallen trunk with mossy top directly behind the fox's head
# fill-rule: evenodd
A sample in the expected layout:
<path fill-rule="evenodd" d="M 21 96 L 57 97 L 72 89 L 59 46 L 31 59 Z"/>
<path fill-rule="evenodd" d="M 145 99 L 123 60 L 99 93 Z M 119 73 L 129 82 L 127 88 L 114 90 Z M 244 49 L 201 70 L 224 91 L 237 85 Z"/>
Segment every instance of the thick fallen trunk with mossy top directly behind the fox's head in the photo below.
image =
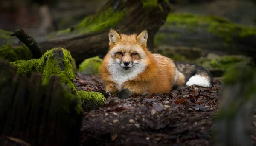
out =
<path fill-rule="evenodd" d="M 48 34 L 34 36 L 42 52 L 60 46 L 70 51 L 79 65 L 84 59 L 105 56 L 108 51 L 108 31 L 140 33 L 148 30 L 148 47 L 154 46 L 154 35 L 170 11 L 167 0 L 109 0 L 96 14 L 76 26 Z M 16 42 L 17 43 L 17 42 Z"/>

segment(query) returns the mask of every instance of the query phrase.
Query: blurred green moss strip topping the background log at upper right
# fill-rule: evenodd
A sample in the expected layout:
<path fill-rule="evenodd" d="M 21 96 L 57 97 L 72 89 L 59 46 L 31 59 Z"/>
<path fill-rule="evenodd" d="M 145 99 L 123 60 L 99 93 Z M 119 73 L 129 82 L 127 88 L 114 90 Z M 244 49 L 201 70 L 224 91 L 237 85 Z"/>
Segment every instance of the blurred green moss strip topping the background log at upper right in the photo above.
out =
<path fill-rule="evenodd" d="M 233 41 L 234 38 L 240 39 L 256 35 L 256 27 L 236 25 L 227 19 L 215 16 L 200 16 L 196 14 L 170 13 L 166 18 L 166 27 L 183 27 L 194 30 L 197 27 L 205 27 L 210 33 L 216 34 L 225 41 Z"/>

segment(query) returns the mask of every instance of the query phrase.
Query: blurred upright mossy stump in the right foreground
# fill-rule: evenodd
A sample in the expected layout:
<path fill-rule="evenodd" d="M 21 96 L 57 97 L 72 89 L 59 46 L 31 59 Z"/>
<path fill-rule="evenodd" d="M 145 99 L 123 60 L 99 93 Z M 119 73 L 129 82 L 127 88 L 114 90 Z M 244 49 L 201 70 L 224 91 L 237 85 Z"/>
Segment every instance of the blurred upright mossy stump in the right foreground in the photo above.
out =
<path fill-rule="evenodd" d="M 212 131 L 214 146 L 252 146 L 248 134 L 256 104 L 256 70 L 230 67 L 224 76 L 221 104 Z"/>

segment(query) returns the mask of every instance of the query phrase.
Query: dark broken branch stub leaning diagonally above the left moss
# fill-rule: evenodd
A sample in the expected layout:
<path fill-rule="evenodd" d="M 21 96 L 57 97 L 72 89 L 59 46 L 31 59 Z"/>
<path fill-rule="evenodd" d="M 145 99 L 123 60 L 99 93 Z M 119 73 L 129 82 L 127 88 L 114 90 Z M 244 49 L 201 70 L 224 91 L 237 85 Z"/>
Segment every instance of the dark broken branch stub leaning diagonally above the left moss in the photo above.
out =
<path fill-rule="evenodd" d="M 32 52 L 33 58 L 38 59 L 42 56 L 42 48 L 38 45 L 35 39 L 26 33 L 21 27 L 17 27 L 13 30 L 14 34 L 11 36 L 16 36 L 20 39 L 20 42 L 23 42 L 29 50 Z"/>

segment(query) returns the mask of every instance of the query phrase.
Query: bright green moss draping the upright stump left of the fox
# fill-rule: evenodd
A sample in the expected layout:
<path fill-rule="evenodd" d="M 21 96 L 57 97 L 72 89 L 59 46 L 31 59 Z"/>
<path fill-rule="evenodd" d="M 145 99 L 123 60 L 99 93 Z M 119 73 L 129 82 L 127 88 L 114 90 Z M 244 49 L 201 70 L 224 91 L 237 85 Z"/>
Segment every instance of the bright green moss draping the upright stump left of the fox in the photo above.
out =
<path fill-rule="evenodd" d="M 63 57 L 61 59 L 56 58 L 55 51 L 61 49 L 63 51 Z M 56 75 L 60 78 L 61 83 L 67 85 L 70 91 L 75 91 L 76 86 L 73 84 L 75 74 L 72 66 L 72 56 L 69 51 L 63 48 L 53 48 L 44 53 L 41 60 L 46 62 L 43 71 L 42 84 L 49 82 L 50 76 Z M 60 66 L 60 63 L 64 66 Z M 62 69 L 61 69 L 62 68 Z"/>

